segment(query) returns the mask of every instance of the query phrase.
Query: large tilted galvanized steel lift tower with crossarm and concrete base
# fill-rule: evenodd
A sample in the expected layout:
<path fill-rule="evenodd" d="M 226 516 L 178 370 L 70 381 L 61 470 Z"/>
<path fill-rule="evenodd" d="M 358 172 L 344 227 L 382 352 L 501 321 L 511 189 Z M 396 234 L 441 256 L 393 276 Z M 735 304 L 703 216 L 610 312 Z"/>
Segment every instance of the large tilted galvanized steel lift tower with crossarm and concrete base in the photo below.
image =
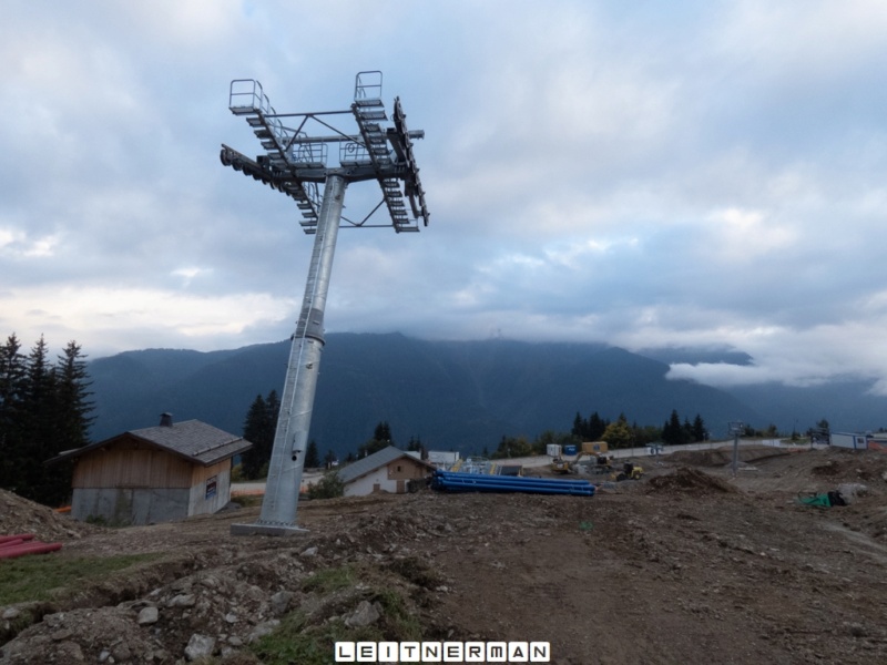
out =
<path fill-rule="evenodd" d="M 296 524 L 296 511 L 339 227 L 386 226 L 400 233 L 419 231 L 420 219 L 428 225 L 425 191 L 412 154 L 412 140 L 422 139 L 425 132 L 407 130 L 399 98 L 395 99 L 391 126 L 383 124 L 388 114 L 381 101 L 381 80 L 378 71 L 358 73 L 349 110 L 317 113 L 277 113 L 258 81 L 231 82 L 228 109 L 246 119 L 266 152 L 252 160 L 223 144 L 222 164 L 295 200 L 305 233 L 315 236 L 302 313 L 292 337 L 262 513 L 255 523 L 233 524 L 233 534 L 286 535 L 303 531 Z M 359 133 L 343 132 L 327 119 L 343 114 L 357 122 Z M 326 134 L 309 135 L 308 131 L 314 130 Z M 338 165 L 329 165 L 330 146 L 336 145 Z M 363 219 L 346 219 L 341 214 L 345 190 L 361 181 L 378 182 L 381 201 Z M 373 223 L 383 205 L 388 209 L 388 219 Z"/>

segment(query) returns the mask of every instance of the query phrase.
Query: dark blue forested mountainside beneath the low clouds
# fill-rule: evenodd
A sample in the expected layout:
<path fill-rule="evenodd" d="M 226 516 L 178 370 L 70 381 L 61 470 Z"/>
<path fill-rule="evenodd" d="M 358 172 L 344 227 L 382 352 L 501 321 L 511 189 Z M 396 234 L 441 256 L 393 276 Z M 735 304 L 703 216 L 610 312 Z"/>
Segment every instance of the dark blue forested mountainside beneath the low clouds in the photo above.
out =
<path fill-rule="evenodd" d="M 241 432 L 258 395 L 282 391 L 289 342 L 235 351 L 128 351 L 90 364 L 94 439 L 154 424 L 170 411 Z M 592 344 L 427 341 L 402 335 L 327 336 L 312 438 L 355 450 L 379 421 L 395 441 L 495 449 L 502 436 L 570 431 L 577 413 L 662 426 L 672 410 L 710 427 L 762 417 L 734 397 L 665 378 L 667 365 Z M 766 423 L 762 423 L 762 427 Z"/>

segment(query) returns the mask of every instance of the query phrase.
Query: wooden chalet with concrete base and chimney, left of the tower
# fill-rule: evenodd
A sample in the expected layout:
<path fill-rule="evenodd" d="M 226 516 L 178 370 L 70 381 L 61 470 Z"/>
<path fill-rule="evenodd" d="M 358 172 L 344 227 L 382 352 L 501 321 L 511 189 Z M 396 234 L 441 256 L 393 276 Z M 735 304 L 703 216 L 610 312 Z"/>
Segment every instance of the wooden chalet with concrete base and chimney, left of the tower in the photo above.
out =
<path fill-rule="evenodd" d="M 253 444 L 200 420 L 161 424 L 63 452 L 73 460 L 71 515 L 112 524 L 214 513 L 231 500 L 232 458 Z"/>

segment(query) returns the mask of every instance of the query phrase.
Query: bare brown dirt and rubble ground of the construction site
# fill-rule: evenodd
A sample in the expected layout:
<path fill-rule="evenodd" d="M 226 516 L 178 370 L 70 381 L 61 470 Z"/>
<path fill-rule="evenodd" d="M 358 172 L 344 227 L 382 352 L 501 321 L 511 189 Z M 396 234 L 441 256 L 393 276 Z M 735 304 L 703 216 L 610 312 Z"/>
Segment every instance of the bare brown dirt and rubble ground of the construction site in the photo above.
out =
<path fill-rule="evenodd" d="M 259 663 L 249 645 L 290 613 L 360 625 L 361 603 L 405 638 L 380 589 L 426 640 L 546 641 L 564 665 L 887 662 L 887 454 L 746 450 L 735 479 L 728 451 L 639 461 L 593 498 L 305 502 L 286 539 L 230 535 L 257 508 L 110 530 L 0 493 L 0 534 L 61 540 L 50 556 L 162 553 L 0 607 L 0 663 Z M 849 505 L 796 501 L 842 484 Z M 344 566 L 349 587 L 312 583 Z"/>

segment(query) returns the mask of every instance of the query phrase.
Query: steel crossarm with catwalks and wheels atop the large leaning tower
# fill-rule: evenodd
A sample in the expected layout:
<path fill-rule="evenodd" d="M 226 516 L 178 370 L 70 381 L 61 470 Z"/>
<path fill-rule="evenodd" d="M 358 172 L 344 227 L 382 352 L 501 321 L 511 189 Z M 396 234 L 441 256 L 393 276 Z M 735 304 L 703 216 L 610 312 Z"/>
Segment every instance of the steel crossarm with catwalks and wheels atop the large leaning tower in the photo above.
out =
<path fill-rule="evenodd" d="M 262 84 L 253 79 L 231 82 L 228 109 L 246 119 L 265 154 L 255 158 L 222 144 L 221 160 L 244 175 L 252 176 L 295 200 L 302 211 L 305 233 L 317 231 L 323 185 L 329 175 L 346 182 L 376 180 L 383 200 L 363 219 L 343 217 L 344 226 L 391 226 L 395 231 L 419 231 L 419 221 L 428 225 L 428 206 L 412 153 L 412 140 L 425 137 L 422 131 L 408 131 L 400 99 L 395 99 L 392 123 L 381 101 L 381 72 L 360 72 L 355 82 L 354 103 L 349 110 L 314 113 L 277 113 Z M 347 133 L 332 124 L 329 116 L 350 115 L 359 133 Z M 285 124 L 286 123 L 286 124 Z M 327 132 L 324 135 L 308 131 Z M 329 133 L 332 132 L 332 133 Z M 330 145 L 338 146 L 338 164 L 329 164 Z M 407 206 L 407 202 L 409 206 Z M 371 223 L 385 204 L 389 221 Z"/>

